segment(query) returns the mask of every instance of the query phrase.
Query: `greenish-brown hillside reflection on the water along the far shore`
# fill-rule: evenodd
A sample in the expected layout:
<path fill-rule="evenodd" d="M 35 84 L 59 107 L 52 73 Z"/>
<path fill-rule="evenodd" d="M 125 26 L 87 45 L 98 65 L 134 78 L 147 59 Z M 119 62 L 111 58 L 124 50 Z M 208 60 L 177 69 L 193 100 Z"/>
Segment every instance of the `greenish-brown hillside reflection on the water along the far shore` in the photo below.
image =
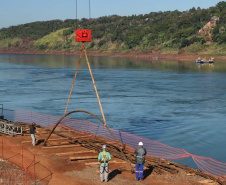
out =
<path fill-rule="evenodd" d="M 64 55 L 0 55 L 1 62 L 23 65 L 35 65 L 44 68 L 71 68 L 77 67 L 79 56 Z M 124 57 L 92 57 L 89 61 L 94 68 L 127 68 L 127 69 L 154 69 L 171 72 L 226 72 L 226 62 L 216 61 L 214 64 L 195 64 L 189 61 L 158 61 L 142 60 L 139 58 Z M 87 68 L 85 58 L 81 68 Z"/>

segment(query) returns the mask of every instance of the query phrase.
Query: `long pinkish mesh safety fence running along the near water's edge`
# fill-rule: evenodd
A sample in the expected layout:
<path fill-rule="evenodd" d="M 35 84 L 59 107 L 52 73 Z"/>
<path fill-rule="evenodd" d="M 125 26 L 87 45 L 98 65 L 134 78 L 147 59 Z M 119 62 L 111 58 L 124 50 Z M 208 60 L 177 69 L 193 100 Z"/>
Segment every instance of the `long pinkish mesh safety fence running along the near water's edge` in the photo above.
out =
<path fill-rule="evenodd" d="M 25 123 L 35 122 L 36 124 L 39 124 L 43 127 L 55 125 L 57 121 L 60 119 L 60 117 L 57 116 L 45 115 L 31 111 L 18 111 L 18 110 L 15 111 L 7 110 L 7 111 L 4 110 L 4 116 L 6 119 L 9 120 L 11 119 L 14 122 L 25 122 Z M 9 117 L 6 115 L 9 115 Z M 95 136 L 103 136 L 113 139 L 108 130 L 106 129 L 106 127 L 90 121 L 64 118 L 61 122 L 61 126 L 67 127 L 68 129 L 72 130 L 91 133 Z M 117 140 L 134 149 L 137 147 L 137 143 L 142 141 L 147 150 L 147 154 L 153 157 L 163 158 L 166 160 L 181 160 L 192 157 L 193 161 L 200 170 L 208 174 L 214 175 L 216 178 L 222 181 L 226 181 L 226 163 L 222 163 L 208 157 L 193 155 L 185 150 L 173 148 L 164 145 L 160 142 L 153 141 L 151 139 L 134 135 L 121 130 L 113 128 L 111 128 L 110 130 L 112 131 Z"/>

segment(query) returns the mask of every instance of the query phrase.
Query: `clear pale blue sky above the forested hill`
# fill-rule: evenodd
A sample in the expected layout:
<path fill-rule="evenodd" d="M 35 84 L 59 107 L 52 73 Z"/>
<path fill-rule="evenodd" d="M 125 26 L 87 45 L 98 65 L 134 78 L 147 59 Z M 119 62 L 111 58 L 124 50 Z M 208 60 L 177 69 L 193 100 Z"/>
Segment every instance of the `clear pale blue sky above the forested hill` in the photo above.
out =
<path fill-rule="evenodd" d="M 209 8 L 219 0 L 91 0 L 91 17 Z M 78 0 L 78 18 L 89 17 L 89 0 Z M 75 19 L 76 0 L 0 0 L 0 28 L 35 21 Z"/>

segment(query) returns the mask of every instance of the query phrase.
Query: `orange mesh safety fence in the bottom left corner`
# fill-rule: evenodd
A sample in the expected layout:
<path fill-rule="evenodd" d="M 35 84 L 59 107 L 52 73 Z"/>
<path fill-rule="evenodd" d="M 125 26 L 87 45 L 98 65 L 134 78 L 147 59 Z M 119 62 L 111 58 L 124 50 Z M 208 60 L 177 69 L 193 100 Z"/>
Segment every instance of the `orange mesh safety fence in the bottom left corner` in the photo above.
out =
<path fill-rule="evenodd" d="M 0 137 L 0 158 L 2 162 L 9 162 L 18 167 L 0 170 L 0 184 L 48 184 L 51 179 L 52 173 L 35 161 L 34 154 L 25 150 L 23 145 L 12 144 L 3 136 Z"/>

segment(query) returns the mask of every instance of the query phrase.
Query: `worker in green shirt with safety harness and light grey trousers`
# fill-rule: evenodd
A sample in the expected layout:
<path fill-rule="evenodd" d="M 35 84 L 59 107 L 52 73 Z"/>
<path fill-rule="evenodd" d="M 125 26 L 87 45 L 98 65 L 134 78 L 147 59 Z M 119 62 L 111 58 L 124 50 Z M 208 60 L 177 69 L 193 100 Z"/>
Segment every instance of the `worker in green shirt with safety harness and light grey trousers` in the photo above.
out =
<path fill-rule="evenodd" d="M 99 153 L 98 161 L 100 162 L 100 180 L 103 181 L 105 175 L 105 182 L 108 181 L 109 164 L 108 161 L 111 160 L 111 155 L 106 151 L 106 145 L 102 146 L 103 152 Z"/>

